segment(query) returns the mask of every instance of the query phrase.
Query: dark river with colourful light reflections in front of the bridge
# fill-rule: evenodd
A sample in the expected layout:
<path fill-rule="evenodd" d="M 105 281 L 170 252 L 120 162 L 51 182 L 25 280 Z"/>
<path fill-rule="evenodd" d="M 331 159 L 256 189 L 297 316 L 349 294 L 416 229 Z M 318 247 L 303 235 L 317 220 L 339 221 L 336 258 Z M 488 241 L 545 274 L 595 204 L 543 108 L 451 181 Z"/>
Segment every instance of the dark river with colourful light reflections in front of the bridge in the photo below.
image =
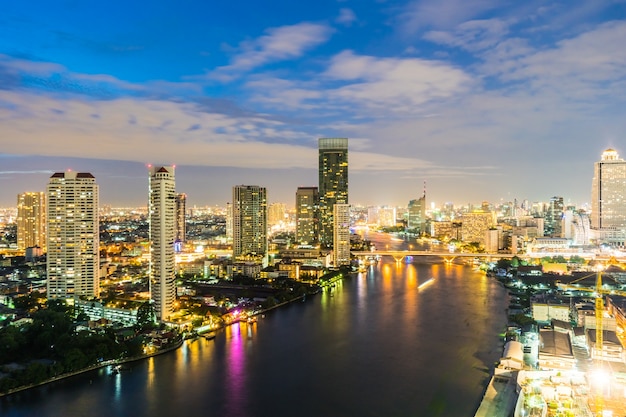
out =
<path fill-rule="evenodd" d="M 214 340 L 1 398 L 0 415 L 469 417 L 500 357 L 507 304 L 469 266 L 383 258 Z"/>

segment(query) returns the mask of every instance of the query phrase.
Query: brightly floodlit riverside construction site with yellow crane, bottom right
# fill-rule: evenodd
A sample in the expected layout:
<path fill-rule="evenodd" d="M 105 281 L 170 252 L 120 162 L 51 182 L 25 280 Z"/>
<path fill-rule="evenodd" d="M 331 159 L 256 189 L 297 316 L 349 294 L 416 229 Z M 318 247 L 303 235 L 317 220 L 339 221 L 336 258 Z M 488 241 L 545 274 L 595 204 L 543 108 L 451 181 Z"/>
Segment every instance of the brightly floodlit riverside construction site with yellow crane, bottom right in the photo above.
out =
<path fill-rule="evenodd" d="M 600 271 L 577 281 L 532 300 L 536 326 L 509 329 L 477 417 L 626 416 L 626 291 Z"/>

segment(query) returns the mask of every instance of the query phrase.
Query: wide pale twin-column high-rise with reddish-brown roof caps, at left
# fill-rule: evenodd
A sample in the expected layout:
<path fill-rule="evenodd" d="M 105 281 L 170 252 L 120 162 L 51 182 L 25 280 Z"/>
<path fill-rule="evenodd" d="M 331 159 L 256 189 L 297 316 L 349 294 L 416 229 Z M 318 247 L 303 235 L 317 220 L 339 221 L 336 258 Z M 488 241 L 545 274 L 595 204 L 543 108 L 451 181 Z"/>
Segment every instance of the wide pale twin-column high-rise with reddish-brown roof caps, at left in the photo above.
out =
<path fill-rule="evenodd" d="M 48 299 L 98 297 L 98 185 L 86 172 L 57 172 L 47 187 Z"/>

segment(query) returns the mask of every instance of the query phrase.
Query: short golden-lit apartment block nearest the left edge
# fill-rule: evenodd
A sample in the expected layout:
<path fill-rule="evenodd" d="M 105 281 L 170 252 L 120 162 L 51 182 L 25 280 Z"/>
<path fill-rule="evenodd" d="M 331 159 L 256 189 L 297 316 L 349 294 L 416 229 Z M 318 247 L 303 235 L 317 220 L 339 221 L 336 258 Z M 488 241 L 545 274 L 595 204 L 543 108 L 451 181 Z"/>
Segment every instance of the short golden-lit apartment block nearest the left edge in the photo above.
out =
<path fill-rule="evenodd" d="M 17 248 L 35 246 L 46 250 L 46 195 L 21 193 L 17 196 Z"/>

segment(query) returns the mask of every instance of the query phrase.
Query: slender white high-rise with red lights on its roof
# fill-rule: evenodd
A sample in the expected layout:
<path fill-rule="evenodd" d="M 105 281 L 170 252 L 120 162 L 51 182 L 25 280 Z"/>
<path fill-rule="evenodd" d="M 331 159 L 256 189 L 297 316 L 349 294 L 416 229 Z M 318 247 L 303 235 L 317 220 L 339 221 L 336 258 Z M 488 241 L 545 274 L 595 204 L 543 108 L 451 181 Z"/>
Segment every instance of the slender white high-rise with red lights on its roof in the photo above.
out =
<path fill-rule="evenodd" d="M 151 166 L 149 174 L 150 295 L 157 319 L 164 321 L 176 300 L 176 182 L 173 166 Z"/>

